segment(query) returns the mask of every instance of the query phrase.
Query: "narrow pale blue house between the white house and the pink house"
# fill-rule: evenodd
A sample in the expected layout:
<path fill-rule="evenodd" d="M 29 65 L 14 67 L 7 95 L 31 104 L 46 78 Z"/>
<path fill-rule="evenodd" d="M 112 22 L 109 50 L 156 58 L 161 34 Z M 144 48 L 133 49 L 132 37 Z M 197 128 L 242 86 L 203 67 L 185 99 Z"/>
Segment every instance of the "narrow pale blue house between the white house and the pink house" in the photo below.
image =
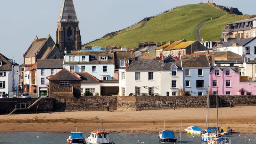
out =
<path fill-rule="evenodd" d="M 181 55 L 183 70 L 183 89 L 187 94 L 207 95 L 209 85 L 210 63 L 205 54 Z"/>

